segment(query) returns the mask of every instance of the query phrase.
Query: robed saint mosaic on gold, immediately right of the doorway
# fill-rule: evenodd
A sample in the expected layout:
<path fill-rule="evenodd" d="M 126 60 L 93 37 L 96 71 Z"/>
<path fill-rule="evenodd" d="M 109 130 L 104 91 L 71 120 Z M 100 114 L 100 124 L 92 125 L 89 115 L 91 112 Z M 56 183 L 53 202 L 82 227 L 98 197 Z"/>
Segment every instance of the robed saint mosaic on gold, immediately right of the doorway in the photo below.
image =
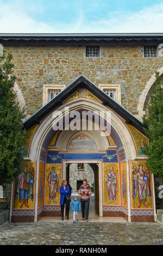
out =
<path fill-rule="evenodd" d="M 105 174 L 105 181 L 107 184 L 108 195 L 110 198 L 109 204 L 112 203 L 112 200 L 114 200 L 115 204 L 117 204 L 117 202 L 116 202 L 117 176 L 113 170 L 114 170 L 114 168 L 110 167 L 108 175 Z"/>

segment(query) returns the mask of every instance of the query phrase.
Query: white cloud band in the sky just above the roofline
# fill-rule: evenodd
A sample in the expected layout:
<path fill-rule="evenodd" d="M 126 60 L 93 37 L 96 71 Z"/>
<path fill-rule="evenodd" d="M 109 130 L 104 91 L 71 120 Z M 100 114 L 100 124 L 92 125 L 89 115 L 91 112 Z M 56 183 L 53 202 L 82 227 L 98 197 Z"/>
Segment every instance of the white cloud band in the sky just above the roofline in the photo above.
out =
<path fill-rule="evenodd" d="M 42 22 L 30 15 L 30 8 L 21 1 L 4 3 L 0 0 L 0 33 L 161 33 L 163 3 L 140 11 L 112 12 L 108 17 L 87 19 L 84 8 L 78 8 L 78 19 L 73 22 Z M 31 9 L 35 9 L 31 6 Z M 41 9 L 42 11 L 42 9 Z M 95 13 L 93 13 L 95 15 Z"/>

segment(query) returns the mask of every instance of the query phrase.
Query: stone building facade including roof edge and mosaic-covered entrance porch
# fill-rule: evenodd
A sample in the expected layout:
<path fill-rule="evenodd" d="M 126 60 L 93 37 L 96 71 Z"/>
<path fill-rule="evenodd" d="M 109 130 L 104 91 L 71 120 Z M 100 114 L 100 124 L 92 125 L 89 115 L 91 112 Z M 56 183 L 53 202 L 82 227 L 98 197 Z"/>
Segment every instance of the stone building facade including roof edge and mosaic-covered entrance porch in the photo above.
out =
<path fill-rule="evenodd" d="M 13 55 L 17 77 L 14 90 L 20 106 L 27 107 L 24 127 L 28 136 L 23 157 L 28 172 L 34 173 L 34 183 L 29 185 L 34 198 L 28 198 L 28 206 L 20 208 L 14 196 L 18 181 L 12 184 L 10 220 L 60 216 L 59 193 L 57 205 L 48 204 L 49 172 L 55 166 L 60 186 L 72 163 L 89 163 L 97 167 L 99 216 L 156 221 L 153 174 L 148 176 L 147 156 L 141 152 L 147 141 L 141 119 L 147 114 L 155 72 L 163 74 L 163 34 L 3 34 L 0 44 Z M 87 48 L 92 48 L 92 55 L 86 55 Z M 98 54 L 93 57 L 95 49 Z M 51 88 L 57 88 L 58 93 L 48 102 L 45 97 Z M 104 88 L 110 93 L 105 93 Z M 113 122 L 110 135 L 106 139 L 96 130 L 52 131 L 52 111 L 65 106 L 80 112 L 109 109 Z M 85 148 L 78 144 L 82 137 Z M 112 203 L 106 186 L 110 168 L 117 177 L 117 194 Z M 139 191 L 134 194 L 135 170 L 148 176 L 149 198 L 143 205 Z"/>

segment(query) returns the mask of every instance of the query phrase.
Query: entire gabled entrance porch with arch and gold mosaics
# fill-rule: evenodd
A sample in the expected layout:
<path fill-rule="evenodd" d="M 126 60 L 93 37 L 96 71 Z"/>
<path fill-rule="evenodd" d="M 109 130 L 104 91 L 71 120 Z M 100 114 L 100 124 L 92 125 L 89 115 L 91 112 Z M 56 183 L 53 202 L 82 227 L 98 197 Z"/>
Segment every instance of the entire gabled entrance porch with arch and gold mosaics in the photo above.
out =
<path fill-rule="evenodd" d="M 97 92 L 97 95 L 86 93 L 87 89 Z M 59 103 L 55 105 L 55 102 Z M 92 119 L 92 130 L 87 127 L 85 130 L 67 129 L 74 121 L 72 116 L 67 121 L 67 109 L 68 113 L 79 113 L 78 124 L 81 123 L 83 111 L 102 112 L 102 120 L 111 124 L 110 133 L 103 130 L 104 123 L 98 123 L 95 117 Z M 58 111 L 59 115 L 54 117 L 54 111 Z M 111 113 L 111 120 L 106 114 L 108 111 Z M 124 217 L 129 222 L 154 220 L 153 175 L 148 184 L 151 195 L 147 199 L 146 208 L 142 205 L 139 209 L 139 190 L 134 193 L 134 171 L 139 172 L 140 165 L 143 170 L 146 169 L 147 157 L 141 154 L 139 143 L 147 138 L 141 133 L 140 121 L 133 115 L 80 77 L 27 121 L 27 127 L 33 124 L 34 132 L 30 137 L 28 155 L 24 157 L 24 161 L 27 167 L 32 164 L 31 168 L 35 171 L 34 201 L 30 202 L 29 209 L 25 206 L 20 209 L 13 193 L 12 221 L 24 220 L 24 214 L 29 221 L 39 221 L 42 216 L 61 216 L 59 190 L 53 194 L 54 201 L 49 202 L 48 177 L 55 166 L 59 188 L 61 180 L 66 179 L 66 163 L 72 162 L 98 164 L 100 217 Z M 56 131 L 54 126 L 57 125 L 59 130 Z M 110 178 L 111 186 L 108 186 Z M 116 192 L 112 193 L 113 190 Z"/>

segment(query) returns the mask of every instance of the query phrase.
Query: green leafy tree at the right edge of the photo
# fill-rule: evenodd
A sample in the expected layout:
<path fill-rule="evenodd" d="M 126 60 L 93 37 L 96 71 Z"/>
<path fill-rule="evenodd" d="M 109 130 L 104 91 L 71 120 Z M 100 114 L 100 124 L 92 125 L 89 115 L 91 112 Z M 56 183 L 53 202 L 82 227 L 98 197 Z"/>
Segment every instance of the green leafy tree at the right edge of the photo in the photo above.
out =
<path fill-rule="evenodd" d="M 148 156 L 148 168 L 163 180 L 163 87 L 159 72 L 156 72 L 155 77 L 156 87 L 152 89 L 148 115 L 143 118 L 144 130 L 149 138 L 149 145 L 145 145 L 142 150 Z"/>

